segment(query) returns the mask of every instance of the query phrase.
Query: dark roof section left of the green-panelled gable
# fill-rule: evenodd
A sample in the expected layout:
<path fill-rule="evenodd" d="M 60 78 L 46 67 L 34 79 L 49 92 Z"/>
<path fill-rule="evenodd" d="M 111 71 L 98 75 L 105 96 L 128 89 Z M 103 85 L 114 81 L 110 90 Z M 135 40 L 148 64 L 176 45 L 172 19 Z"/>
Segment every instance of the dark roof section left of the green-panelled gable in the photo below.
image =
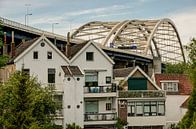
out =
<path fill-rule="evenodd" d="M 114 77 L 127 77 L 133 71 L 133 69 L 133 67 L 114 69 L 113 74 Z"/>

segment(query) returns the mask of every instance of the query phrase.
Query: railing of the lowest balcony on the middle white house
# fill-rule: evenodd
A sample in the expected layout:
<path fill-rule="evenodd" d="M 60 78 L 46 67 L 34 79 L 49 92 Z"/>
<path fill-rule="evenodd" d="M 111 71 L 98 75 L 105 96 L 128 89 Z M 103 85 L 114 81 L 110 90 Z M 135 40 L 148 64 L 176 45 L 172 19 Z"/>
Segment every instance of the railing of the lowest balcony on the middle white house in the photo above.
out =
<path fill-rule="evenodd" d="M 116 119 L 116 113 L 84 114 L 84 121 L 113 121 Z"/>

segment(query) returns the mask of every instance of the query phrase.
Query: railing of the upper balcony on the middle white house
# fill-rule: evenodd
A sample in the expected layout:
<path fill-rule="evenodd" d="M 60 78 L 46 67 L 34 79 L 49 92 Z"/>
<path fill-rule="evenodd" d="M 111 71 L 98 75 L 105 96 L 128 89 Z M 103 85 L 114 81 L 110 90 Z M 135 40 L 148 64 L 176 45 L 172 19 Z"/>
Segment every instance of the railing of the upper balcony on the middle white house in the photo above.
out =
<path fill-rule="evenodd" d="M 84 87 L 84 93 L 111 93 L 116 92 L 116 86 L 94 86 L 94 87 Z"/>

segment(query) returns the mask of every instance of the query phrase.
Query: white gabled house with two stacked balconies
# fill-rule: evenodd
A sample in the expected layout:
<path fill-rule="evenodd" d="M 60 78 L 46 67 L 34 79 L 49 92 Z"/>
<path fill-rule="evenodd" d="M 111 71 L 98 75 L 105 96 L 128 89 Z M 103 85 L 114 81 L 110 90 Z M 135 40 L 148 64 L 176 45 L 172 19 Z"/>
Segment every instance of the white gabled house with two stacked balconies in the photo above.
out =
<path fill-rule="evenodd" d="M 84 127 L 113 128 L 117 116 L 117 91 L 112 83 L 114 62 L 93 42 L 80 44 L 80 51 L 71 55 L 70 64 L 78 65 L 85 76 Z"/>

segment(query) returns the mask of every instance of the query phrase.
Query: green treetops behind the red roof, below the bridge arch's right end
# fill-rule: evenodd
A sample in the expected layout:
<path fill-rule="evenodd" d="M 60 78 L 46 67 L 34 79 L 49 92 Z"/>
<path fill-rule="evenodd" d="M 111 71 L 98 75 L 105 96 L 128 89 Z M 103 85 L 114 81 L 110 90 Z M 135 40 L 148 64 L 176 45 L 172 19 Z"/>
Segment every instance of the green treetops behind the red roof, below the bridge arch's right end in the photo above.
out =
<path fill-rule="evenodd" d="M 186 74 L 188 73 L 189 65 L 187 63 L 166 64 L 164 73 Z"/>

